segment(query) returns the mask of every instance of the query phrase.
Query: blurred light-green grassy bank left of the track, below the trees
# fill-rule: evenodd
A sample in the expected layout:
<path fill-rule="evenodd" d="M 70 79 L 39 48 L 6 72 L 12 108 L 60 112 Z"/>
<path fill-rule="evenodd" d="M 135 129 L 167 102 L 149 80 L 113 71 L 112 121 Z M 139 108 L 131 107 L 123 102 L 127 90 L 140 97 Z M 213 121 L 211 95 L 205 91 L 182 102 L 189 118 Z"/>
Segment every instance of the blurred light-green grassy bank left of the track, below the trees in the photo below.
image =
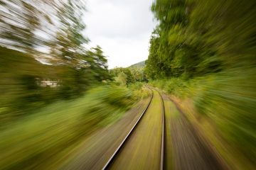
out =
<path fill-rule="evenodd" d="M 100 86 L 73 101 L 60 101 L 0 131 L 1 169 L 47 169 L 98 128 L 134 103 L 132 92 Z"/>

